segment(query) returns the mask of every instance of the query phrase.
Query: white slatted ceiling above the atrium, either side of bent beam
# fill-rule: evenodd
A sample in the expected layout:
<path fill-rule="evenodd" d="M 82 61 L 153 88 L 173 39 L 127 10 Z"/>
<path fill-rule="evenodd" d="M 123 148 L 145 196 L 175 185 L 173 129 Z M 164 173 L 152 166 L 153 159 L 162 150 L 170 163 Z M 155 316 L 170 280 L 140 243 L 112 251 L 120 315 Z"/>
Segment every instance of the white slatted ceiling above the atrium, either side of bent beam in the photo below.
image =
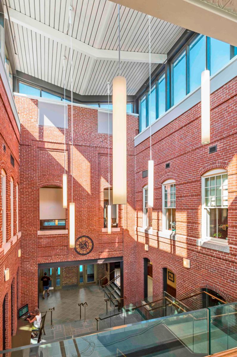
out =
<path fill-rule="evenodd" d="M 118 50 L 117 5 L 108 0 L 7 0 L 13 9 L 37 21 L 67 33 L 68 7 L 72 4 L 72 36 L 91 46 Z M 120 7 L 121 49 L 148 52 L 148 17 L 141 12 Z M 17 48 L 17 69 L 63 87 L 62 57 L 68 59 L 66 88 L 71 88 L 70 48 L 34 31 L 12 24 Z M 166 21 L 151 18 L 151 51 L 167 53 L 184 29 Z M 68 32 L 70 35 L 70 30 Z M 94 60 L 75 50 L 72 52 L 73 90 L 86 95 L 106 95 L 107 81 L 118 74 L 117 61 Z M 152 64 L 151 70 L 156 64 Z M 121 74 L 127 79 L 127 94 L 134 95 L 148 78 L 147 63 L 122 62 Z M 112 94 L 112 85 L 111 85 Z"/>

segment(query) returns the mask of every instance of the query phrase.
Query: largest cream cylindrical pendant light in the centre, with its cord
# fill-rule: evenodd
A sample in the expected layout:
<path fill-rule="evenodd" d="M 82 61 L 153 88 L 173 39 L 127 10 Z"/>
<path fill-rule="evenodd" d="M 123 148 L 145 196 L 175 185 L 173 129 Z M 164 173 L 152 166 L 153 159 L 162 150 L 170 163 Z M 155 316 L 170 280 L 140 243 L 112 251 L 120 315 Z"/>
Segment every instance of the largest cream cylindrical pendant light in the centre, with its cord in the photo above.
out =
<path fill-rule="evenodd" d="M 120 68 L 120 5 L 119 76 L 113 79 L 113 204 L 127 203 L 127 84 Z"/>

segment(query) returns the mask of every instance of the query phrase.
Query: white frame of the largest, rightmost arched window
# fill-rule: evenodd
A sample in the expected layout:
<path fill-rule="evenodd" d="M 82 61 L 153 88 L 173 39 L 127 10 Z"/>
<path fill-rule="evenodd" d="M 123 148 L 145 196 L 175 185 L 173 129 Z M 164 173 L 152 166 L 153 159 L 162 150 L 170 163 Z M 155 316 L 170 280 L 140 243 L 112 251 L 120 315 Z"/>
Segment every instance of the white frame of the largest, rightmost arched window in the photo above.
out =
<path fill-rule="evenodd" d="M 228 171 L 225 169 L 213 169 L 213 170 L 207 171 L 204 175 L 202 175 L 202 220 L 201 220 L 201 224 L 202 224 L 202 239 L 203 240 L 205 240 L 205 241 L 211 240 L 211 241 L 225 244 L 228 242 L 228 240 L 225 241 L 221 238 L 207 236 L 207 227 L 209 225 L 209 217 L 207 215 L 207 210 L 206 210 L 206 206 L 205 206 L 205 178 L 217 176 L 217 175 L 221 175 L 221 174 L 228 174 Z M 220 206 L 219 208 L 222 208 L 222 206 Z M 224 208 L 228 209 L 228 206 L 225 206 Z"/>

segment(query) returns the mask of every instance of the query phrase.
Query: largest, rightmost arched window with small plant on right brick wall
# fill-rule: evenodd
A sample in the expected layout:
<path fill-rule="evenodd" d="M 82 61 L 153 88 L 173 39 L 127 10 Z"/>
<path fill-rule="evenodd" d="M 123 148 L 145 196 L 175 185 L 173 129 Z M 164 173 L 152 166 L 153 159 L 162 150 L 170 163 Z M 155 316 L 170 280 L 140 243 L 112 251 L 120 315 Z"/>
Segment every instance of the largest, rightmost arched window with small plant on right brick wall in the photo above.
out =
<path fill-rule="evenodd" d="M 202 237 L 228 238 L 228 174 L 214 169 L 202 176 Z"/>

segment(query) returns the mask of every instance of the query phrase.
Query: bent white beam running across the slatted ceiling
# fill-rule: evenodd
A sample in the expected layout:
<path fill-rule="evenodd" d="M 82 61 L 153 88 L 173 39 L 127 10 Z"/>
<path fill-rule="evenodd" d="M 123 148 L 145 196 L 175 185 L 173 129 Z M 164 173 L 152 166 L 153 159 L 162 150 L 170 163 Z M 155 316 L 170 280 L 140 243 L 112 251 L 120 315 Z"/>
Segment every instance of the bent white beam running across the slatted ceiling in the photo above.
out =
<path fill-rule="evenodd" d="M 10 20 L 18 25 L 26 27 L 35 31 L 49 39 L 59 42 L 62 45 L 70 47 L 70 36 L 58 31 L 50 26 L 43 24 L 40 21 L 32 19 L 29 16 L 22 14 L 19 11 L 8 8 Z M 7 12 L 5 11 L 7 18 Z M 117 61 L 119 59 L 119 51 L 116 50 L 102 50 L 85 44 L 75 38 L 72 38 L 72 48 L 82 54 L 90 56 L 95 60 Z M 152 63 L 165 62 L 167 55 L 165 54 L 151 54 Z M 149 62 L 149 54 L 143 52 L 129 52 L 121 51 L 121 61 L 125 62 Z"/>

